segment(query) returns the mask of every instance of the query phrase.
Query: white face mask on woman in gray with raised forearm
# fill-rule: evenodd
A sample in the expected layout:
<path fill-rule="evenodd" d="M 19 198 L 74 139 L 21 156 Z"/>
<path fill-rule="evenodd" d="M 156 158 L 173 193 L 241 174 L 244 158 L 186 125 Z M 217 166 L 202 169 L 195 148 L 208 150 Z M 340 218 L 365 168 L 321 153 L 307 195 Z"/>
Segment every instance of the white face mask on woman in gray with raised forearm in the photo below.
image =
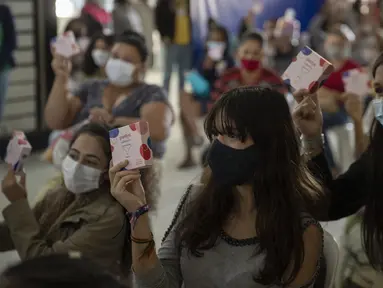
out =
<path fill-rule="evenodd" d="M 133 81 L 134 65 L 120 59 L 109 59 L 105 72 L 109 81 L 120 87 L 128 86 Z"/>

